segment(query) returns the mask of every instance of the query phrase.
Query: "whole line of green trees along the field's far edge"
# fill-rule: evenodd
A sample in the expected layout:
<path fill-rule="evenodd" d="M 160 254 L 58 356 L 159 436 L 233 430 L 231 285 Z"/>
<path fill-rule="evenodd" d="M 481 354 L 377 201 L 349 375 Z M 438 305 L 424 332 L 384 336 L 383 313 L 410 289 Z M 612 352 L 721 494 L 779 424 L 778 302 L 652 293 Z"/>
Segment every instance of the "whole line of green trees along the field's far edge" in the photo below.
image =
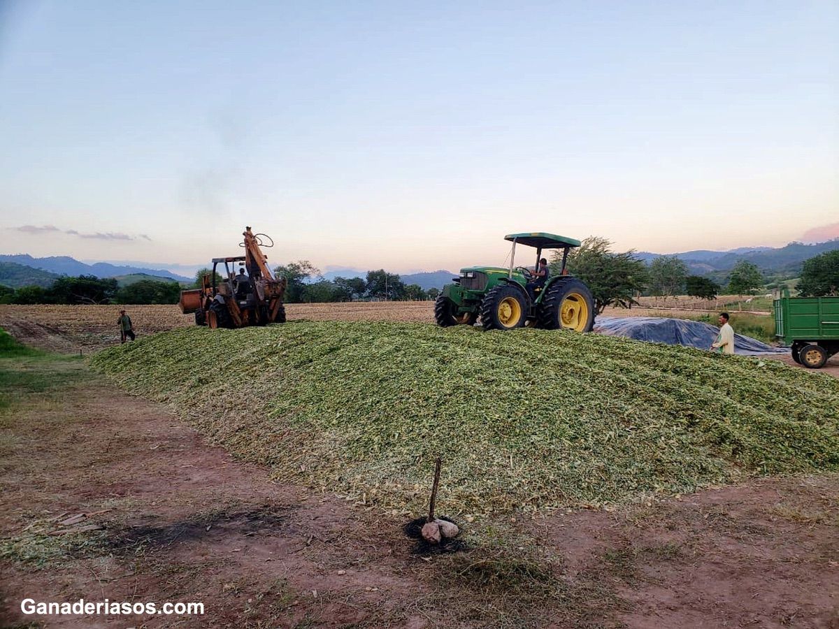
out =
<path fill-rule="evenodd" d="M 559 273 L 561 253 L 551 258 L 551 273 Z M 602 237 L 588 237 L 581 247 L 571 250 L 568 270 L 591 289 L 598 312 L 607 306 L 628 308 L 641 295 L 669 297 L 689 295 L 714 299 L 717 294 L 751 295 L 766 289 L 781 289 L 782 282 L 769 281 L 753 263 L 741 260 L 721 284 L 711 278 L 691 275 L 687 265 L 675 256 L 660 256 L 646 264 L 633 250 L 613 252 L 612 243 Z M 191 288 L 211 273 L 204 268 L 195 273 Z M 365 278 L 327 280 L 308 260 L 299 260 L 274 269 L 288 286 L 285 301 L 329 303 L 357 300 L 435 299 L 439 289 L 424 290 L 418 284 L 405 284 L 397 273 L 383 268 L 367 271 Z M 221 277 L 216 273 L 216 280 Z M 821 253 L 805 260 L 796 290 L 803 297 L 839 295 L 839 250 Z M 0 284 L 0 304 L 177 304 L 182 287 L 167 280 L 140 279 L 120 287 L 114 278 L 94 275 L 57 278 L 49 288 L 23 286 L 12 289 Z"/>

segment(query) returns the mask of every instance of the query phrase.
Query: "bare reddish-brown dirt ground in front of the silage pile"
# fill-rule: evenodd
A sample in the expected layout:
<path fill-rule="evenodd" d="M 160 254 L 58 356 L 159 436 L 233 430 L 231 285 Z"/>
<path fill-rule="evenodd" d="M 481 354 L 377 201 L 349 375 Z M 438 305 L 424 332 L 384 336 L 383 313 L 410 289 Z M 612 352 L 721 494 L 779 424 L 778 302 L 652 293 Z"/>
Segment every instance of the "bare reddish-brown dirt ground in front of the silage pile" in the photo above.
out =
<path fill-rule="evenodd" d="M 404 517 L 274 482 L 83 359 L 0 373 L 0 626 L 839 629 L 839 475 L 461 522 L 472 549 L 417 556 Z M 206 610 L 33 618 L 27 597 Z"/>

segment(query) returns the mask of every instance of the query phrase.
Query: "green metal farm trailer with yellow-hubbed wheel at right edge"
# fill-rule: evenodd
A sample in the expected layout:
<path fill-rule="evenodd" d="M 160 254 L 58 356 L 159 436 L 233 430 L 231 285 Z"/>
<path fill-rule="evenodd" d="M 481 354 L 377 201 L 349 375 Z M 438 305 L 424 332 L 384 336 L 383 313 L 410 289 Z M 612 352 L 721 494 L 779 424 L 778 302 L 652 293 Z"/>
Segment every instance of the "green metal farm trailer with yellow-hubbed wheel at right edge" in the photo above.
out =
<path fill-rule="evenodd" d="M 839 353 L 839 297 L 782 297 L 774 310 L 775 336 L 795 362 L 818 369 Z"/>

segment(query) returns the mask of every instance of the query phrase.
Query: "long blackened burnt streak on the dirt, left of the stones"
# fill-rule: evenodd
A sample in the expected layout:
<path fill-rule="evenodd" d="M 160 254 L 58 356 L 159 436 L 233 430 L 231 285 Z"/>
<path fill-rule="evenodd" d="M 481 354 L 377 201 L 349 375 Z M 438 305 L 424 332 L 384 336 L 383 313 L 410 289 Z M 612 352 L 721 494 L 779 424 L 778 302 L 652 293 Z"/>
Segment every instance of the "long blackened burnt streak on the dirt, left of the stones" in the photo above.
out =
<path fill-rule="evenodd" d="M 213 541 L 232 536 L 272 535 L 283 528 L 291 507 L 258 507 L 248 511 L 201 514 L 160 526 L 143 524 L 114 531 L 109 545 L 114 550 L 166 548 L 176 543 Z"/>

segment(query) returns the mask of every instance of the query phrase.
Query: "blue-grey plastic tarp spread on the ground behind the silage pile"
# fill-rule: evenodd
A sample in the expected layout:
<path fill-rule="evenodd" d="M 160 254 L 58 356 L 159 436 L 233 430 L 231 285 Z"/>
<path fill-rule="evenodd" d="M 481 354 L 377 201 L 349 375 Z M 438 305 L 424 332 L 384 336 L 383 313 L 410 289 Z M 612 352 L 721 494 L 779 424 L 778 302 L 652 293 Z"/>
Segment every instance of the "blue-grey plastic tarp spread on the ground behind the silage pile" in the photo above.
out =
<path fill-rule="evenodd" d="M 612 336 L 626 336 L 630 339 L 646 340 L 650 343 L 683 345 L 706 350 L 717 340 L 717 327 L 684 319 L 661 317 L 597 317 L 594 331 Z M 782 354 L 787 350 L 773 347 L 753 339 L 751 336 L 734 334 L 734 353 L 746 356 L 760 354 Z"/>

